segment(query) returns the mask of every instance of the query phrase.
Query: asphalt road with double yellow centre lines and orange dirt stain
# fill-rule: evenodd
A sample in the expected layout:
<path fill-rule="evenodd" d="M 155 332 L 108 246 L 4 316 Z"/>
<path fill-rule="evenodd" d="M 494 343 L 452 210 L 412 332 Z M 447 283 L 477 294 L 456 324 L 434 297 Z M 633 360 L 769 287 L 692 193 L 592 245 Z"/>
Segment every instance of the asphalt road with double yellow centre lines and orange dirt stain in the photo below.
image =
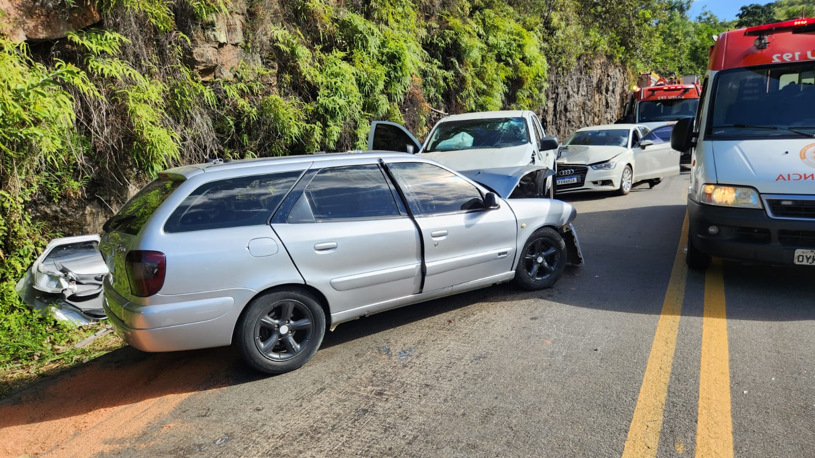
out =
<path fill-rule="evenodd" d="M 687 271 L 687 183 L 562 196 L 553 288 L 341 324 L 279 377 L 117 350 L 0 402 L 0 456 L 813 456 L 815 271 Z"/>

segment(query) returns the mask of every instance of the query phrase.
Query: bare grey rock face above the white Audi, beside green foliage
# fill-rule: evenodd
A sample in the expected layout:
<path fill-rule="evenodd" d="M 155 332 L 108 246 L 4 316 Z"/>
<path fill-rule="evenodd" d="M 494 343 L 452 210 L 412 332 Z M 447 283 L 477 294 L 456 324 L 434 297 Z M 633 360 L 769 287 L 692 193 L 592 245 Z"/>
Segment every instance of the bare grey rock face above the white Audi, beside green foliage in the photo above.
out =
<path fill-rule="evenodd" d="M 606 56 L 584 56 L 569 72 L 550 71 L 542 122 L 565 142 L 581 127 L 610 124 L 623 114 L 628 73 Z"/>

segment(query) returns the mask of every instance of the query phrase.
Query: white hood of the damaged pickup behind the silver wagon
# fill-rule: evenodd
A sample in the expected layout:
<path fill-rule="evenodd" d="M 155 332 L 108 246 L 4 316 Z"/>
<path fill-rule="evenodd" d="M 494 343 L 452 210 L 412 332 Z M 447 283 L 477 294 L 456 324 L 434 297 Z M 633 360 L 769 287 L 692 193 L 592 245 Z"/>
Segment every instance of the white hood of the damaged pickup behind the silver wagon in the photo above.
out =
<path fill-rule="evenodd" d="M 534 149 L 530 143 L 509 148 L 460 149 L 457 151 L 421 152 L 419 156 L 447 165 L 452 170 L 482 170 L 528 165 Z"/>

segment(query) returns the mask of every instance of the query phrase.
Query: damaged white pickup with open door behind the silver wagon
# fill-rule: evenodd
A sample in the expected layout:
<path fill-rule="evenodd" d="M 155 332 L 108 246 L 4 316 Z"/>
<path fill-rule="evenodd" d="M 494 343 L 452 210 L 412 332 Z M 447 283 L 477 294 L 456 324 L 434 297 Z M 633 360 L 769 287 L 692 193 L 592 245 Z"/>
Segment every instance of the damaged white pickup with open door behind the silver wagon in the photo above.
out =
<path fill-rule="evenodd" d="M 373 121 L 369 150 L 410 152 L 447 165 L 509 198 L 553 197 L 557 138 L 531 111 L 444 117 L 419 143 L 403 126 Z"/>

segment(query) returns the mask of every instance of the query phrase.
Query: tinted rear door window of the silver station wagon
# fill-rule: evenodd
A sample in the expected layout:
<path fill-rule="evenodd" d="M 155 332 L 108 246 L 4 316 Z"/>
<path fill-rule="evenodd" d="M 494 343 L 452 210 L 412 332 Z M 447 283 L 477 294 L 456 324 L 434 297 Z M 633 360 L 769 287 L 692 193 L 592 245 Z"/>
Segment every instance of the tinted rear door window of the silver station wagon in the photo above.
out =
<path fill-rule="evenodd" d="M 295 202 L 288 222 L 401 217 L 378 165 L 319 170 Z"/>

